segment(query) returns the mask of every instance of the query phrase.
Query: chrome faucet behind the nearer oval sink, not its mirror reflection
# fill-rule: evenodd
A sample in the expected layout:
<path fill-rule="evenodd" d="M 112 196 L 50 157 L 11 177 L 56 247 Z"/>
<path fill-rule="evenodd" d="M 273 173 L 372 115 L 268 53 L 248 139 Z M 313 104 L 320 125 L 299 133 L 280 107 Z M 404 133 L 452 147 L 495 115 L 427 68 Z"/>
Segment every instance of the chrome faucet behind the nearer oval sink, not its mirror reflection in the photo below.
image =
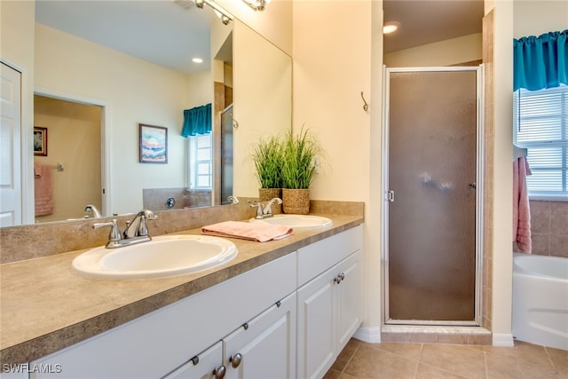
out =
<path fill-rule="evenodd" d="M 132 221 L 126 222 L 126 230 L 121 233 L 120 228 L 116 224 L 116 219 L 107 223 L 97 223 L 92 225 L 93 229 L 102 226 L 110 226 L 108 233 L 108 242 L 106 249 L 122 248 L 124 246 L 134 245 L 140 242 L 152 241 L 152 237 L 148 234 L 146 220 L 155 220 L 158 218 L 152 210 L 140 210 Z"/>

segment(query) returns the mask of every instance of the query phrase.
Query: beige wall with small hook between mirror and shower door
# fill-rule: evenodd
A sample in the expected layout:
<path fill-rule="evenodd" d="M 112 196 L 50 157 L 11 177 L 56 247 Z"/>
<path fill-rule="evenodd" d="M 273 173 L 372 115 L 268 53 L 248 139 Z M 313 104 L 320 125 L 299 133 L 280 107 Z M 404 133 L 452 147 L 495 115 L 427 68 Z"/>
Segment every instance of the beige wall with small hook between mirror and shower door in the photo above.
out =
<path fill-rule="evenodd" d="M 382 2 L 295 1 L 293 14 L 294 130 L 310 128 L 327 153 L 312 198 L 366 202 L 363 326 L 369 340 L 379 336 L 381 322 Z"/>

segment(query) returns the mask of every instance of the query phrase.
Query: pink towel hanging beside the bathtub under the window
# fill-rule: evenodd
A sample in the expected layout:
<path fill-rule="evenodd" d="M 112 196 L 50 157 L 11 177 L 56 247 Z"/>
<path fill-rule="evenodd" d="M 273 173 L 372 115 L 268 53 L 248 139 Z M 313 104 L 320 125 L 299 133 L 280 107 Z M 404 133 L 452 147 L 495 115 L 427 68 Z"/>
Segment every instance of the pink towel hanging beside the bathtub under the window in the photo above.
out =
<path fill-rule="evenodd" d="M 526 190 L 526 176 L 531 169 L 524 156 L 513 161 L 513 241 L 519 250 L 530 253 L 531 241 L 531 209 Z"/>

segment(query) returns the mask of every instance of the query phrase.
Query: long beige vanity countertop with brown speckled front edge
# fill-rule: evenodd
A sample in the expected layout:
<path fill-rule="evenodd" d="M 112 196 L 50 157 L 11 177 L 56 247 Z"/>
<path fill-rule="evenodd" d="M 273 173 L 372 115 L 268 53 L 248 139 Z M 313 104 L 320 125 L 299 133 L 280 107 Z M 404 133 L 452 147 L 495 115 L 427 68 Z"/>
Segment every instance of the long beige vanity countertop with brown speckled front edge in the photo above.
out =
<path fill-rule="evenodd" d="M 319 216 L 333 225 L 296 229 L 280 241 L 231 239 L 239 250 L 232 261 L 173 278 L 83 278 L 70 265 L 85 250 L 0 265 L 0 364 L 41 358 L 363 222 L 362 216 Z"/>

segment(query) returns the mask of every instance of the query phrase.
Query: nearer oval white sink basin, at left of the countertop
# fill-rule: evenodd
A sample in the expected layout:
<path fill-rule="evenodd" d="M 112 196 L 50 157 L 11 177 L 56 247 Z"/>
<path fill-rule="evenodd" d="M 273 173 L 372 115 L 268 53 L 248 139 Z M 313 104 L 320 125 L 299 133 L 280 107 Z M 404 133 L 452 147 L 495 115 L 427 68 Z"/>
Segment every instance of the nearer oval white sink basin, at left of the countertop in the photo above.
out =
<path fill-rule="evenodd" d="M 71 270 L 98 279 L 167 278 L 225 264 L 237 256 L 233 242 L 177 234 L 118 249 L 99 247 L 75 257 Z"/>

